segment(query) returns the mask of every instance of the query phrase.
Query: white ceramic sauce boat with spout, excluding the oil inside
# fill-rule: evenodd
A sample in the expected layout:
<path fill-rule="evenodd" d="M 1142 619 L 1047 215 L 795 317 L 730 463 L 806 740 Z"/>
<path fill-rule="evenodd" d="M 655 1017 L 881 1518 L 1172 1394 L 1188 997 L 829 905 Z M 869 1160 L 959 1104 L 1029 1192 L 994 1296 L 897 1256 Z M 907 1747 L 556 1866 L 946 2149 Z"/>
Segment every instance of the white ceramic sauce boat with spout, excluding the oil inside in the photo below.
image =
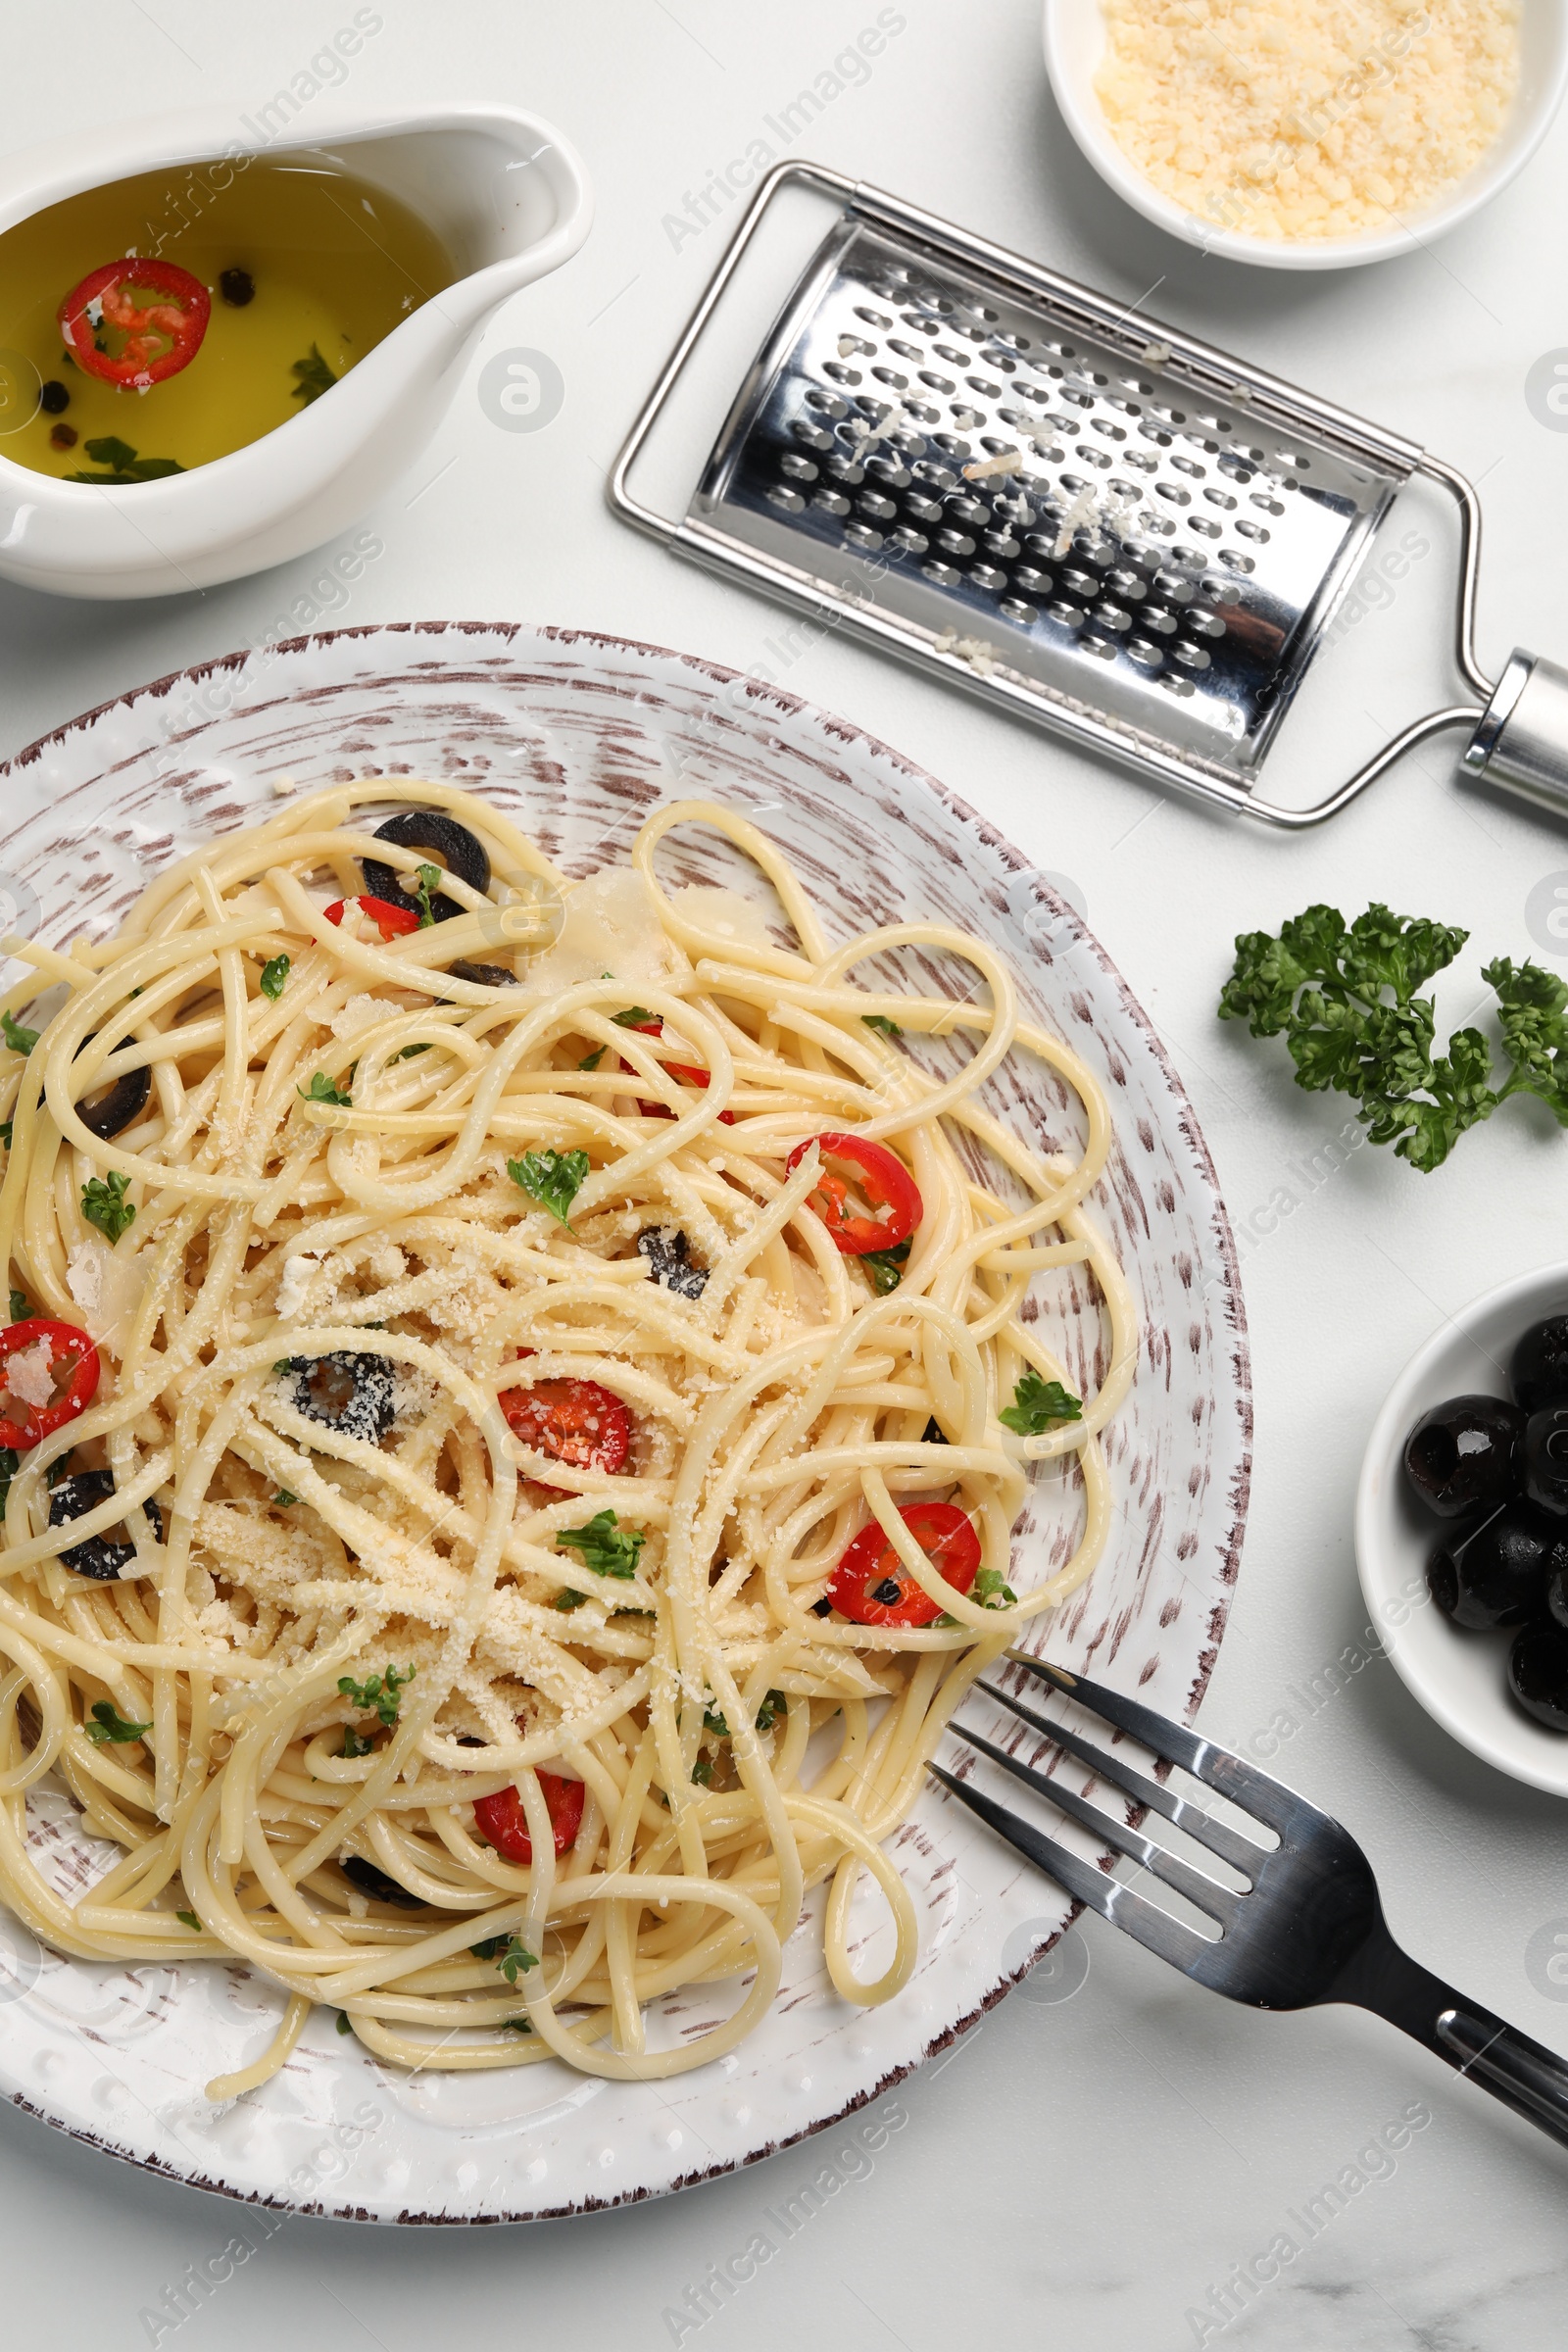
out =
<path fill-rule="evenodd" d="M 5 456 L 0 576 L 54 595 L 136 597 L 209 588 L 334 539 L 404 470 L 440 423 L 491 313 L 569 261 L 592 223 L 583 165 L 538 115 L 512 106 L 418 113 L 301 113 L 268 141 L 216 108 L 162 115 L 33 148 L 0 167 L 0 230 L 82 188 L 202 169 L 226 186 L 244 158 L 320 160 L 386 188 L 447 245 L 463 275 L 299 416 L 190 473 L 99 489 Z M 106 259 L 106 256 L 103 256 Z M 2 355 L 0 355 L 2 360 Z"/>

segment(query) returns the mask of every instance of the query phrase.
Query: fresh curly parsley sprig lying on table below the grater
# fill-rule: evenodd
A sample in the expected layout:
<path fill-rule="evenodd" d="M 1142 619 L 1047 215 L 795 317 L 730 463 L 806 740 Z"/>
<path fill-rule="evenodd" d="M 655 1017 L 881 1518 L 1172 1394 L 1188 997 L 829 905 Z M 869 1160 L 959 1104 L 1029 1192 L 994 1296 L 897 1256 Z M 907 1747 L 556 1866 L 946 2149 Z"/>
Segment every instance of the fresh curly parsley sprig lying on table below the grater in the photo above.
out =
<path fill-rule="evenodd" d="M 1568 983 L 1540 964 L 1497 957 L 1481 978 L 1497 997 L 1509 1073 L 1493 1087 L 1479 1028 L 1455 1030 L 1434 1054 L 1432 997 L 1418 990 L 1443 971 L 1469 931 L 1373 903 L 1354 922 L 1309 906 L 1279 938 L 1244 931 L 1220 993 L 1220 1021 L 1253 1037 L 1284 1033 L 1295 1084 L 1347 1094 L 1373 1143 L 1392 1143 L 1422 1174 L 1441 1167 L 1469 1127 L 1512 1094 L 1535 1094 L 1568 1127 Z"/>

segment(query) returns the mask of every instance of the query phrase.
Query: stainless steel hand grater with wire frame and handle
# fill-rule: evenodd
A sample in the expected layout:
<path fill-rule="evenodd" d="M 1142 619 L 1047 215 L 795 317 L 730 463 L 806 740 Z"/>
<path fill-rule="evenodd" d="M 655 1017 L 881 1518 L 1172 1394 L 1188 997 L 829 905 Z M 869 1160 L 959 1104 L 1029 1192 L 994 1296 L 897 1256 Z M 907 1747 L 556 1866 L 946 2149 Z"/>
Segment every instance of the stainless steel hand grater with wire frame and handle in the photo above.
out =
<path fill-rule="evenodd" d="M 630 473 L 788 181 L 839 221 L 752 362 L 682 522 Z M 1255 790 L 1368 541 L 1410 475 L 1460 508 L 1455 654 L 1434 710 L 1309 809 Z M 1180 786 L 1314 826 L 1415 743 L 1568 816 L 1568 670 L 1476 663 L 1481 506 L 1396 433 L 877 188 L 806 162 L 759 186 L 609 482 L 719 572 Z"/>

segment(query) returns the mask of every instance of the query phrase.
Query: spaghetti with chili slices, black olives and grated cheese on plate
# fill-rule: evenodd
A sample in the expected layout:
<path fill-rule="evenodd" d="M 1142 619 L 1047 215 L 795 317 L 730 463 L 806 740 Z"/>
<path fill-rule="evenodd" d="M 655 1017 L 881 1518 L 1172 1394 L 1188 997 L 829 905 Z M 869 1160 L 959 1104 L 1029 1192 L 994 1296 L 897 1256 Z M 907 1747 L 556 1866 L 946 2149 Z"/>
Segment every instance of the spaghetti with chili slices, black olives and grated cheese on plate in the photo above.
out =
<path fill-rule="evenodd" d="M 832 946 L 708 802 L 567 882 L 480 797 L 390 800 L 205 844 L 110 941 L 12 941 L 0 1000 L 0 1896 L 68 1955 L 282 1985 L 214 2098 L 313 2004 L 393 2065 L 703 2065 L 820 1882 L 832 1985 L 891 1999 L 884 1842 L 1091 1576 L 1133 1376 L 1103 1091 L 983 941 Z M 792 946 L 665 889 L 684 823 Z M 910 955 L 969 995 L 851 978 Z M 1077 1091 L 1081 1157 L 985 1108 L 1011 1054 Z M 1060 1270 L 1103 1303 L 1093 1395 L 1039 1336 Z M 1074 1543 L 1016 1592 L 1039 1463 Z M 73 1900 L 28 1849 L 45 1773 L 120 1849 Z M 717 1980 L 731 2013 L 656 2046 L 649 2006 Z"/>

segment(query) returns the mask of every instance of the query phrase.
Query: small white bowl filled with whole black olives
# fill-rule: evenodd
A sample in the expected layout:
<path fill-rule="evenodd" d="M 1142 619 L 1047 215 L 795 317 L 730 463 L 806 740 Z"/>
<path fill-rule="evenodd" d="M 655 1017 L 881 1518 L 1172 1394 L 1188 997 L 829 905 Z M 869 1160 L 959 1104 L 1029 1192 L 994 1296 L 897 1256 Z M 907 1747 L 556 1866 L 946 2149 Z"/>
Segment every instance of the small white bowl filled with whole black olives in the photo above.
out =
<path fill-rule="evenodd" d="M 1356 1562 L 1427 1712 L 1568 1797 L 1568 1265 L 1472 1301 L 1406 1364 L 1361 1463 Z"/>

